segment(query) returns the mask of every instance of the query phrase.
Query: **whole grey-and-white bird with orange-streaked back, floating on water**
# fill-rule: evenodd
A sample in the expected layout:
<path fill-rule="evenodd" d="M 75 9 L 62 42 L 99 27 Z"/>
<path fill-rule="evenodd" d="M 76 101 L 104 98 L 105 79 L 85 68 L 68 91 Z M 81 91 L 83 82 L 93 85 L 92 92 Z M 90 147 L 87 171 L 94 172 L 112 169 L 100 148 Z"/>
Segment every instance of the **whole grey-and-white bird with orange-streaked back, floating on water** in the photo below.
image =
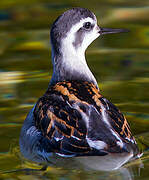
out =
<path fill-rule="evenodd" d="M 121 32 L 128 30 L 102 28 L 94 13 L 81 7 L 65 11 L 54 21 L 50 32 L 53 74 L 22 126 L 19 143 L 25 158 L 48 163 L 54 155 L 82 161 L 98 157 L 98 162 L 107 167 L 112 162 L 109 167 L 118 169 L 139 156 L 125 116 L 101 94 L 85 57 L 95 39 Z"/>

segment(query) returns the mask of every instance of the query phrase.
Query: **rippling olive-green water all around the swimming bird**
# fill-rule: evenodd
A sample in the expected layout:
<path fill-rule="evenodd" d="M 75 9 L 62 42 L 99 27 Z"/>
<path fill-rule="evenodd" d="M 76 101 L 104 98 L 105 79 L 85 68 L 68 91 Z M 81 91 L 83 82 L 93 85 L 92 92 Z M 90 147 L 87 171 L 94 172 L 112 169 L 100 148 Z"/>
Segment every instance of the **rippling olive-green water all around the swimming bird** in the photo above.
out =
<path fill-rule="evenodd" d="M 130 30 L 98 38 L 86 56 L 102 94 L 126 115 L 140 149 L 149 146 L 149 0 L 1 0 L 0 179 L 149 179 L 148 151 L 141 162 L 108 173 L 71 167 L 20 171 L 40 168 L 23 159 L 18 140 L 27 113 L 51 78 L 50 26 L 76 6 L 92 10 L 103 27 Z"/>

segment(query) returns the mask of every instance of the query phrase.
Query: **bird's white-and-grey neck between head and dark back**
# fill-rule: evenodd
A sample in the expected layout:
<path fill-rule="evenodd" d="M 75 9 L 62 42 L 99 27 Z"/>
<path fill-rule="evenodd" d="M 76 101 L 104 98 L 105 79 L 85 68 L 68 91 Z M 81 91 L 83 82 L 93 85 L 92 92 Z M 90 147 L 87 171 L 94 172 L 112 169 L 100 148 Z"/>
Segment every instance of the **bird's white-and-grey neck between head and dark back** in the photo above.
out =
<path fill-rule="evenodd" d="M 60 81 L 88 81 L 98 87 L 97 81 L 90 71 L 85 50 L 63 47 L 61 51 L 52 48 L 53 75 L 50 84 Z"/>

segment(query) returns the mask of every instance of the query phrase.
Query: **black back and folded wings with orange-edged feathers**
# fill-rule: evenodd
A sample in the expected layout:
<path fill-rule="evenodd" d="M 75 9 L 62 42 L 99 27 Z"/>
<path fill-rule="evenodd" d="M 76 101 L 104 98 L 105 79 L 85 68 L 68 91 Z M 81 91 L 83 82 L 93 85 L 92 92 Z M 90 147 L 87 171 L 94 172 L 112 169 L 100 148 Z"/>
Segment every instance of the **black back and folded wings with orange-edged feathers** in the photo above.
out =
<path fill-rule="evenodd" d="M 47 151 L 64 156 L 119 152 L 122 141 L 133 139 L 120 111 L 87 82 L 61 82 L 49 88 L 37 102 L 34 117 Z"/>

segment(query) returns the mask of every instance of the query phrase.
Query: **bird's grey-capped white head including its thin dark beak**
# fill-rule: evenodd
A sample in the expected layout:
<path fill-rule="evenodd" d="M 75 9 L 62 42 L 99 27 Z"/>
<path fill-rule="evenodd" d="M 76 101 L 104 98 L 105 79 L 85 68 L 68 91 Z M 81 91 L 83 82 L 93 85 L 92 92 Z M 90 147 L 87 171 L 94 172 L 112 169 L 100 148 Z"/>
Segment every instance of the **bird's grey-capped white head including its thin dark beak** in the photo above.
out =
<path fill-rule="evenodd" d="M 85 8 L 73 8 L 59 16 L 52 25 L 51 43 L 55 51 L 84 53 L 100 35 L 127 32 L 124 29 L 101 28 L 96 16 Z"/>

